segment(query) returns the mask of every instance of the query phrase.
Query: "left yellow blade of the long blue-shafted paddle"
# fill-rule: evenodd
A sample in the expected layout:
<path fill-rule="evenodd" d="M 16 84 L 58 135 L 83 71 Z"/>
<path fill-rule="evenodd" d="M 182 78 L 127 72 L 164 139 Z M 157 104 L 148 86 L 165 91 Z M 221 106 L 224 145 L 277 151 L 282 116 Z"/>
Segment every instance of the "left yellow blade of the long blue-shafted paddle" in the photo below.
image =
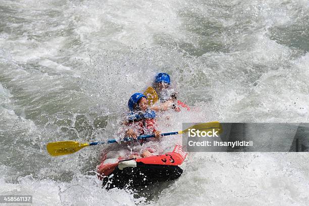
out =
<path fill-rule="evenodd" d="M 46 148 L 51 156 L 69 155 L 74 153 L 81 148 L 89 146 L 89 143 L 79 143 L 76 141 L 61 141 L 61 142 L 50 142 Z"/>

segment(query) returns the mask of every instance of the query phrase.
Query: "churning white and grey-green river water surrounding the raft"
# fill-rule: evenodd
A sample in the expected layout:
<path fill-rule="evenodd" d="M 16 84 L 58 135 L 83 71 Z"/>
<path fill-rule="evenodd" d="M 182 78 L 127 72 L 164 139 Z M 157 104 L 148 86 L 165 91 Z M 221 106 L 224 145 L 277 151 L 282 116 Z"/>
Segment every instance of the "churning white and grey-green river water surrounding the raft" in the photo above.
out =
<path fill-rule="evenodd" d="M 55 158 L 46 144 L 117 137 L 128 98 L 157 72 L 195 108 L 168 114 L 163 132 L 308 122 L 308 39 L 305 0 L 0 0 L 0 194 L 34 205 L 307 205 L 306 152 L 191 152 L 176 181 L 106 191 L 95 174 L 104 146 Z"/>

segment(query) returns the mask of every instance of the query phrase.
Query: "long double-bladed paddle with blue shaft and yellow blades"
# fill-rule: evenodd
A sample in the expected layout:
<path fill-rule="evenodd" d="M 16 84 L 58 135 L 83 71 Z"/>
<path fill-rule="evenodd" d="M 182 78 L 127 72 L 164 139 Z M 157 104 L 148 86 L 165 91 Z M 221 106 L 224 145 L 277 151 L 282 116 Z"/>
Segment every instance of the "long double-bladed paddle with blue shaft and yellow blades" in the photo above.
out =
<path fill-rule="evenodd" d="M 220 134 L 222 132 L 222 126 L 219 122 L 208 122 L 208 123 L 201 123 L 193 125 L 185 130 L 178 131 L 178 132 L 168 132 L 163 133 L 161 136 L 168 136 L 168 135 L 174 135 L 174 134 L 183 134 L 187 133 L 189 129 L 196 129 L 200 131 L 208 131 L 213 130 L 218 131 Z M 150 137 L 155 137 L 155 135 L 141 135 L 137 137 L 137 139 L 146 139 Z M 124 141 L 130 141 L 133 138 L 124 138 Z M 108 139 L 107 141 L 98 141 L 98 142 L 90 142 L 90 143 L 79 143 L 77 141 L 59 141 L 59 142 L 49 142 L 46 146 L 47 151 L 49 155 L 51 156 L 61 156 L 61 155 L 69 155 L 71 153 L 74 153 L 85 146 L 92 146 L 92 145 L 98 145 L 98 144 L 110 144 L 117 142 L 116 139 Z"/>

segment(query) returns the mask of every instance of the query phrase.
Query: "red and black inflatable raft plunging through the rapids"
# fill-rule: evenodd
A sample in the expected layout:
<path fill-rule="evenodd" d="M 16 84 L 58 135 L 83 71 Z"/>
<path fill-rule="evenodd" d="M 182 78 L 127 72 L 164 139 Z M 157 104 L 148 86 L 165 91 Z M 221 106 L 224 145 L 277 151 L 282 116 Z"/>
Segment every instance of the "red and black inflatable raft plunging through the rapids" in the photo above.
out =
<path fill-rule="evenodd" d="M 156 182 L 174 180 L 180 177 L 182 169 L 178 167 L 183 163 L 187 153 L 181 145 L 176 145 L 171 152 L 164 155 L 153 155 L 140 159 L 117 160 L 103 157 L 97 167 L 98 178 L 103 181 L 106 189 L 136 188 Z"/>

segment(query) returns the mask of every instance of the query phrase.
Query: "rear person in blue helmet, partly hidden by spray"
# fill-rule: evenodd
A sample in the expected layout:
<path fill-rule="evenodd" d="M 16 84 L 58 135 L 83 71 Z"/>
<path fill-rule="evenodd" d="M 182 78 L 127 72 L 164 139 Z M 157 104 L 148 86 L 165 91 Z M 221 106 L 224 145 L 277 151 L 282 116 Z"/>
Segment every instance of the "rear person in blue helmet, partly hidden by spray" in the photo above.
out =
<path fill-rule="evenodd" d="M 151 109 L 155 111 L 166 111 L 168 109 L 174 109 L 179 112 L 180 108 L 176 105 L 176 92 L 174 89 L 170 89 L 171 84 L 170 75 L 167 73 L 158 73 L 153 83 L 153 88 L 156 90 L 160 104 L 152 106 Z"/>

